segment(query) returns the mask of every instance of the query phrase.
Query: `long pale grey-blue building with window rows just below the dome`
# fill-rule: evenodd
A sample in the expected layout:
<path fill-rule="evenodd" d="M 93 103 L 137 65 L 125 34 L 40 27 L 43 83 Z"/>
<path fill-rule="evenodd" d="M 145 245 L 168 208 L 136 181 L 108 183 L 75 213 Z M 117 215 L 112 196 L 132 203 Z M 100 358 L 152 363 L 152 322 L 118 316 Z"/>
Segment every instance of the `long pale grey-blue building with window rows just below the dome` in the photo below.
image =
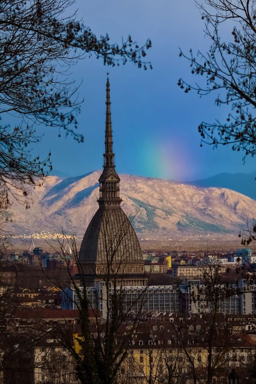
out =
<path fill-rule="evenodd" d="M 256 314 L 256 284 L 248 285 L 248 281 L 240 279 L 238 284 L 219 285 L 218 311 L 223 314 Z M 241 293 L 238 294 L 238 290 Z M 83 291 L 83 288 L 80 288 Z M 110 289 L 110 302 L 113 289 Z M 213 305 L 209 302 L 209 287 L 200 279 L 185 280 L 181 285 L 127 286 L 119 287 L 125 312 L 167 312 L 175 314 L 211 313 Z M 107 291 L 106 283 L 100 281 L 94 287 L 87 288 L 91 307 L 106 317 Z M 76 309 L 79 299 L 73 288 L 66 288 L 62 293 L 62 309 Z"/>

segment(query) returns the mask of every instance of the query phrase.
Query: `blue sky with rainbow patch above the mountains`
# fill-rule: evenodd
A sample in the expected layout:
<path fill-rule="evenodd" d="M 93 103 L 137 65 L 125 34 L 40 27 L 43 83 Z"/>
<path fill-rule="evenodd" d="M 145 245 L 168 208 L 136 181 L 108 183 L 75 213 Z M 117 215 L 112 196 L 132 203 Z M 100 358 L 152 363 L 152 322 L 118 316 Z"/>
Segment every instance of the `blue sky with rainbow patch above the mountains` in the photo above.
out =
<path fill-rule="evenodd" d="M 140 45 L 150 37 L 153 46 L 147 58 L 153 70 L 139 70 L 131 63 L 107 68 L 94 57 L 85 57 L 73 67 L 72 79 L 77 84 L 82 81 L 78 129 L 85 142 L 77 144 L 71 138 L 58 138 L 57 130 L 47 130 L 35 151 L 43 157 L 51 149 L 55 170 L 76 176 L 101 168 L 107 72 L 119 173 L 185 181 L 256 170 L 254 159 L 243 165 L 241 153 L 231 148 L 200 147 L 198 125 L 224 118 L 225 111 L 214 105 L 214 97 L 185 94 L 177 86 L 180 77 L 194 79 L 188 63 L 179 58 L 179 47 L 203 51 L 209 46 L 193 0 L 79 0 L 75 7 L 95 34 L 108 33 L 112 42 L 131 34 Z"/>

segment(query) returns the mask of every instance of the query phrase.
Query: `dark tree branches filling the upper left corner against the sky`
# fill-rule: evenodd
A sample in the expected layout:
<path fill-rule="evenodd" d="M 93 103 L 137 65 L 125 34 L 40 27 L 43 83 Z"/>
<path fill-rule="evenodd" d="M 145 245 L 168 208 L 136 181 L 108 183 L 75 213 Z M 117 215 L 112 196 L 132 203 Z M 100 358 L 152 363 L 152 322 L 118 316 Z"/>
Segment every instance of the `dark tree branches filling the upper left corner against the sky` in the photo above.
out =
<path fill-rule="evenodd" d="M 73 0 L 3 0 L 0 2 L 0 184 L 41 183 L 52 169 L 49 155 L 32 158 L 30 148 L 40 140 L 38 125 L 55 127 L 82 142 L 76 131 L 79 104 L 70 67 L 78 58 L 95 55 L 103 64 L 128 61 L 147 68 L 148 39 L 139 46 L 130 36 L 121 45 L 108 35 L 96 37 L 77 15 Z M 69 16 L 70 15 L 70 16 Z M 150 66 L 151 67 L 151 66 Z M 10 114 L 17 124 L 9 124 Z"/>

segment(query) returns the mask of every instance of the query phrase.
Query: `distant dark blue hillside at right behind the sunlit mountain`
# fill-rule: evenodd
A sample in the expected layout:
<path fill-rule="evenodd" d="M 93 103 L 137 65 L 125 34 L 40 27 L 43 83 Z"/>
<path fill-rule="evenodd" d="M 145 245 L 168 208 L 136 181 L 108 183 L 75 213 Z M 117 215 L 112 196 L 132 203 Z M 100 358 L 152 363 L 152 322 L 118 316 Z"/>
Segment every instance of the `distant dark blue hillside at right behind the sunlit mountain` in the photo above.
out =
<path fill-rule="evenodd" d="M 246 173 L 219 173 L 218 175 L 209 177 L 208 179 L 195 180 L 186 182 L 201 187 L 219 187 L 233 189 L 243 195 L 249 196 L 256 200 L 256 171 Z"/>

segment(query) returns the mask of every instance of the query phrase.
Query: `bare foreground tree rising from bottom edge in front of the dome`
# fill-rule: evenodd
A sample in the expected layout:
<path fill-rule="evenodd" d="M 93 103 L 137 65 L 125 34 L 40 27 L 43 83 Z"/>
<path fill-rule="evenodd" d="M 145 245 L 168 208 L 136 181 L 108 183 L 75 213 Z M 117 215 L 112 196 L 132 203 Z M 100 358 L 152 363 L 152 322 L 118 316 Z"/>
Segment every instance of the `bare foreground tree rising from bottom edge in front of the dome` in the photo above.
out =
<path fill-rule="evenodd" d="M 68 270 L 70 287 L 75 292 L 76 299 L 66 293 L 61 279 L 55 276 L 55 281 L 63 291 L 64 297 L 73 302 L 80 316 L 80 330 L 73 336 L 74 342 L 70 343 L 70 333 L 66 332 L 66 329 L 62 329 L 60 340 L 73 356 L 79 381 L 85 384 L 120 383 L 121 368 L 127 357 L 130 342 L 136 337 L 136 332 L 141 326 L 146 302 L 147 282 L 141 287 L 141 293 L 136 299 L 126 300 L 126 267 L 132 252 L 129 251 L 127 234 L 132 218 L 126 218 L 115 226 L 113 215 L 111 208 L 106 210 L 103 226 L 100 228 L 106 261 L 100 274 L 97 275 L 96 270 L 94 271 L 95 277 L 100 278 L 102 283 L 101 294 L 96 303 L 97 309 L 87 291 L 88 277 L 85 274 L 85 265 L 79 260 L 75 237 L 63 234 L 53 247 Z M 67 244 L 71 255 L 66 253 Z M 78 268 L 78 274 L 75 276 L 69 268 L 70 258 Z M 145 280 L 147 281 L 146 275 Z M 104 308 L 102 316 L 98 310 L 101 302 Z M 90 310 L 94 311 L 95 324 L 90 324 Z"/>

